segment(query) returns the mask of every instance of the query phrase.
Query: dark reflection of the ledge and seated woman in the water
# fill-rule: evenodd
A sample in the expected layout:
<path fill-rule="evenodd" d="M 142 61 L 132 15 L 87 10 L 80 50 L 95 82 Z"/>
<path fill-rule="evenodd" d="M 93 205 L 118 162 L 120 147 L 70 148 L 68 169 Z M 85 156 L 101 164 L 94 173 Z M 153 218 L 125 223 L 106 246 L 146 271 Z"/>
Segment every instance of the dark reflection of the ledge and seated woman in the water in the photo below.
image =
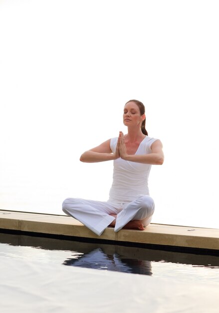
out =
<path fill-rule="evenodd" d="M 60 251 L 64 265 L 122 271 L 145 275 L 153 274 L 152 264 L 189 264 L 191 267 L 219 268 L 219 256 L 153 250 L 113 244 L 88 243 L 46 237 L 0 233 L 0 243 L 29 246 L 49 251 Z M 63 253 L 65 252 L 65 253 Z M 70 257 L 66 258 L 66 252 Z M 65 256 L 63 256 L 65 255 Z M 63 256 L 63 258 L 62 258 Z M 153 265 L 154 266 L 154 265 Z M 175 266 L 176 267 L 176 266 Z M 161 270 L 162 272 L 162 270 Z"/>

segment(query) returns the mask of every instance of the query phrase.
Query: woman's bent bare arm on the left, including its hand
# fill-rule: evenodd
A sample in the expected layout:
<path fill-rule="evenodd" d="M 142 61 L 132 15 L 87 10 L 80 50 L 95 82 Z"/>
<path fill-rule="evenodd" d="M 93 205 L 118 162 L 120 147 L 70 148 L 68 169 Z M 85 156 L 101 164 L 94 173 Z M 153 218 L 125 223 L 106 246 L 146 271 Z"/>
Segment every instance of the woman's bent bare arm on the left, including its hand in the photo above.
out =
<path fill-rule="evenodd" d="M 109 161 L 109 160 L 114 160 L 118 158 L 119 157 L 119 140 L 117 142 L 115 153 L 112 153 L 112 150 L 110 148 L 110 140 L 111 139 L 108 139 L 104 141 L 103 143 L 101 143 L 100 145 L 82 153 L 80 157 L 80 161 L 93 163 L 93 162 Z"/>

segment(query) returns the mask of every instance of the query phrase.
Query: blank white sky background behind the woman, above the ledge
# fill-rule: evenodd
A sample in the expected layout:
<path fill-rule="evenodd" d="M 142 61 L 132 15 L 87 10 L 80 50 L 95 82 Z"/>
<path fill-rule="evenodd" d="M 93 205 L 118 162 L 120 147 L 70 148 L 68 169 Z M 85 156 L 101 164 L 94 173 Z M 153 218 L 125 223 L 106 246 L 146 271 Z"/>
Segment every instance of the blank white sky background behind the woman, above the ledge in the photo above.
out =
<path fill-rule="evenodd" d="M 80 154 L 146 106 L 165 162 L 153 222 L 219 228 L 219 2 L 1 0 L 0 208 L 61 213 L 106 200 L 112 161 Z"/>

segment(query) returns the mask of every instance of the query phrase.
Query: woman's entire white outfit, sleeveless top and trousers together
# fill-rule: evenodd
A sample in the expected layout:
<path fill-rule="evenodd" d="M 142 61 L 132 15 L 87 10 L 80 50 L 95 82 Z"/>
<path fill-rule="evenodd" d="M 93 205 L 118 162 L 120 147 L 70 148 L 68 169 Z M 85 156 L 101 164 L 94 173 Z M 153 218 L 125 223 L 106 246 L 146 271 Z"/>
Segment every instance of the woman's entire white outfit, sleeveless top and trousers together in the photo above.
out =
<path fill-rule="evenodd" d="M 112 138 L 110 147 L 115 152 L 118 138 Z M 157 139 L 146 136 L 135 154 L 151 152 L 151 144 Z M 97 235 L 115 219 L 115 231 L 119 231 L 130 220 L 141 220 L 147 226 L 154 213 L 154 200 L 149 196 L 148 176 L 151 164 L 114 160 L 113 183 L 108 201 L 67 198 L 62 210 L 82 222 Z"/>

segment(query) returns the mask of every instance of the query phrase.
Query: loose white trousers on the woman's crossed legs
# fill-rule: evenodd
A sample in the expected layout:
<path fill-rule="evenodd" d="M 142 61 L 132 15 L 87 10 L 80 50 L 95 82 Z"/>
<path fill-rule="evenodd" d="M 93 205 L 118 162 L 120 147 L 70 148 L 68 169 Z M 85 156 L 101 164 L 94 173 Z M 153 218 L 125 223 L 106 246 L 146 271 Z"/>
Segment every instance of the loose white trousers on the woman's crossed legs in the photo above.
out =
<path fill-rule="evenodd" d="M 117 214 L 115 231 L 119 231 L 130 220 L 141 220 L 147 226 L 154 213 L 154 200 L 149 195 L 138 195 L 137 198 L 125 204 L 104 201 L 67 198 L 62 203 L 62 210 L 95 232 L 101 235 L 104 229 L 115 219 L 109 214 Z"/>

